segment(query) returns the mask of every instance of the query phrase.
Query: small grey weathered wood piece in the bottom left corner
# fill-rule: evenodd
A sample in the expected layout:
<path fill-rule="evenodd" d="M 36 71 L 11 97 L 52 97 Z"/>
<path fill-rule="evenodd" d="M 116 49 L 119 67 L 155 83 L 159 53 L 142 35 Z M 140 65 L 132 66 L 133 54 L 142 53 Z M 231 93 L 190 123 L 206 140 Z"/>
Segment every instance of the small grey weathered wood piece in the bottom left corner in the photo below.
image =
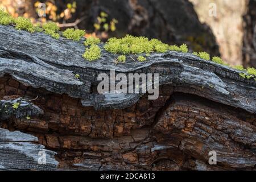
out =
<path fill-rule="evenodd" d="M 56 169 L 56 152 L 46 150 L 35 142 L 38 142 L 38 138 L 32 135 L 0 128 L 0 170 Z M 43 155 L 45 163 L 40 159 Z"/>

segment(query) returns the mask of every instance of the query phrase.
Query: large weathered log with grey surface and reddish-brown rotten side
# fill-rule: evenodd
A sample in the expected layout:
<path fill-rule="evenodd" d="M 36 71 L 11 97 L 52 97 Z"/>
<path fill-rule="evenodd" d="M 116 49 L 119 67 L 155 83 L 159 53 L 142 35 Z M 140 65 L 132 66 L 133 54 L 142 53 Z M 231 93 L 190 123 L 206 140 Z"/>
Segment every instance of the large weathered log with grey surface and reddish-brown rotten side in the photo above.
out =
<path fill-rule="evenodd" d="M 0 26 L 0 36 L 0 100 L 38 96 L 30 102 L 44 111 L 0 127 L 39 137 L 61 169 L 255 169 L 254 77 L 191 53 L 152 53 L 144 63 L 130 55 L 115 64 L 102 48 L 90 62 L 82 40 L 10 26 Z M 97 76 L 111 69 L 159 73 L 159 98 L 98 94 Z M 209 151 L 217 152 L 215 166 Z"/>

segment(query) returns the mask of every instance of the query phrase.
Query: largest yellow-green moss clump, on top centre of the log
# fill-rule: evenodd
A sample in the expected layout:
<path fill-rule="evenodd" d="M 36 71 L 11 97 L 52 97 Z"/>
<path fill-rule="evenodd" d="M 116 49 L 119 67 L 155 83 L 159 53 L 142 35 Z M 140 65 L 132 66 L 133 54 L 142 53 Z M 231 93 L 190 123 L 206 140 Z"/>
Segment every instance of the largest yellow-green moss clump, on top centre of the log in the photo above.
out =
<path fill-rule="evenodd" d="M 105 44 L 106 51 L 111 53 L 121 53 L 127 55 L 130 53 L 151 53 L 151 52 L 167 52 L 168 45 L 157 39 L 148 40 L 143 36 L 135 37 L 126 35 L 124 38 L 110 38 Z"/>

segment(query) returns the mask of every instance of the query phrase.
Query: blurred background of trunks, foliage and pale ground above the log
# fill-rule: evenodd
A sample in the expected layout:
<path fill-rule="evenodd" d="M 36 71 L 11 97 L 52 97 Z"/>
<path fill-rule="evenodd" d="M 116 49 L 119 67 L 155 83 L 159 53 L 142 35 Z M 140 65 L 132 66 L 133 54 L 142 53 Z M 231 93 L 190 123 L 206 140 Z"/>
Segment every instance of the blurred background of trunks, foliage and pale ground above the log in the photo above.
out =
<path fill-rule="evenodd" d="M 0 8 L 34 23 L 84 29 L 102 41 L 147 36 L 256 67 L 256 0 L 0 0 Z"/>

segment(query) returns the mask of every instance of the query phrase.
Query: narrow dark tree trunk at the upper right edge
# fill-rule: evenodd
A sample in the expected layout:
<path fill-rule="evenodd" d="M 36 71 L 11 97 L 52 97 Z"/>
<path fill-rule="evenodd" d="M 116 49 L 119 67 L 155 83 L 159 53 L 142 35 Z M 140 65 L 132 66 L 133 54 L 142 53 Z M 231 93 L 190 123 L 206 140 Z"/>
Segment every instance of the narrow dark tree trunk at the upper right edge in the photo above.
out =
<path fill-rule="evenodd" d="M 256 68 L 256 1 L 250 0 L 243 36 L 243 65 Z"/>

